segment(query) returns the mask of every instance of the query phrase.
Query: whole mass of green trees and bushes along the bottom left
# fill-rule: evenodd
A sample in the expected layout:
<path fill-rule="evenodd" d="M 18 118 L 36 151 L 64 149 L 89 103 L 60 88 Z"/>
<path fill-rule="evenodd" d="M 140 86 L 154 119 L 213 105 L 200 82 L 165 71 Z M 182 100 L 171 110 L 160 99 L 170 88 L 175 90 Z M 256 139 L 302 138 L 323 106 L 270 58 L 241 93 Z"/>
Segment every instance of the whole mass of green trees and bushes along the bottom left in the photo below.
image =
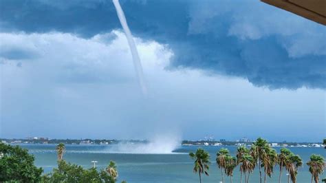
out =
<path fill-rule="evenodd" d="M 65 144 L 58 144 L 58 159 L 62 159 Z M 116 163 L 110 162 L 107 169 L 83 169 L 82 166 L 58 160 L 58 168 L 41 176 L 43 170 L 34 166 L 34 156 L 21 147 L 0 143 L 0 182 L 92 182 L 113 183 L 118 178 Z M 124 181 L 125 182 L 125 181 Z"/>

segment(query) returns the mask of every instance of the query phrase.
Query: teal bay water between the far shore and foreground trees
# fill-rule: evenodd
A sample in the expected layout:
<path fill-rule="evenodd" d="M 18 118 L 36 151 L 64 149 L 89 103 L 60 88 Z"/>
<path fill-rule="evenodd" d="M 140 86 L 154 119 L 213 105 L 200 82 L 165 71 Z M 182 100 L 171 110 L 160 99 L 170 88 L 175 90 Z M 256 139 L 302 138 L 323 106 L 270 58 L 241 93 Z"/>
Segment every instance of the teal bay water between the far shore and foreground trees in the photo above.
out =
<path fill-rule="evenodd" d="M 92 166 L 91 161 L 96 160 L 98 169 L 104 169 L 110 160 L 118 164 L 119 180 L 127 182 L 199 182 L 198 175 L 193 173 L 193 162 L 188 153 L 199 147 L 179 147 L 173 153 L 167 154 L 140 154 L 140 153 L 110 153 L 109 149 L 114 145 L 67 145 L 64 159 L 85 168 Z M 45 172 L 56 167 L 56 151 L 54 144 L 21 144 L 36 158 L 36 166 L 41 166 Z M 220 170 L 215 163 L 215 154 L 221 147 L 201 147 L 211 155 L 210 175 L 202 178 L 203 182 L 221 181 Z M 237 147 L 226 147 L 232 155 L 235 155 Z M 275 148 L 279 151 L 280 148 Z M 310 174 L 305 162 L 312 153 L 325 157 L 325 149 L 313 147 L 290 147 L 294 153 L 303 158 L 303 167 L 298 172 L 298 183 L 310 182 Z M 282 182 L 287 182 L 287 176 L 283 171 Z M 320 177 L 323 177 L 321 175 Z M 268 178 L 268 182 L 278 182 L 279 167 L 275 167 L 274 175 Z M 230 182 L 225 177 L 226 182 Z M 240 182 L 239 167 L 235 169 L 233 182 Z M 250 182 L 259 182 L 258 169 L 250 175 Z"/>

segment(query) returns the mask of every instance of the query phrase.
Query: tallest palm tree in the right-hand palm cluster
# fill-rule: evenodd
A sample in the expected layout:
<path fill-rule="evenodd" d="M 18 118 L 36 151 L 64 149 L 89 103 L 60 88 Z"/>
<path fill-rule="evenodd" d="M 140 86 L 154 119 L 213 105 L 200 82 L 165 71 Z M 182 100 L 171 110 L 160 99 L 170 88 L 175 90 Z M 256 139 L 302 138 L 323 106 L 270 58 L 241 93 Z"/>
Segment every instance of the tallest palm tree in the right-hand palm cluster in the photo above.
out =
<path fill-rule="evenodd" d="M 257 160 L 259 163 L 259 177 L 260 177 L 260 183 L 261 183 L 261 163 L 263 160 L 263 157 L 266 157 L 266 151 L 269 147 L 268 142 L 262 138 L 257 138 L 256 142 L 253 142 L 253 147 L 252 147 L 252 155 L 254 155 L 254 158 Z"/>

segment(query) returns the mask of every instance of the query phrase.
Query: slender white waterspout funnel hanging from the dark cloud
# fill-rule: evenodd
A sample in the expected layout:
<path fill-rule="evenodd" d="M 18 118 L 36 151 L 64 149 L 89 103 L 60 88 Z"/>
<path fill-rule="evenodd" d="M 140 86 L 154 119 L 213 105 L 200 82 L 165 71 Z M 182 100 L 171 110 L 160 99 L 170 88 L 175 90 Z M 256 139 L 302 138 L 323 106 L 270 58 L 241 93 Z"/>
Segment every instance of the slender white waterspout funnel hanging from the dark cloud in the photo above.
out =
<path fill-rule="evenodd" d="M 138 76 L 140 87 L 142 87 L 142 93 L 147 94 L 147 88 L 146 88 L 146 85 L 144 82 L 144 75 L 142 73 L 142 64 L 140 63 L 140 58 L 138 55 L 137 47 L 135 46 L 135 42 L 133 41 L 133 36 L 131 35 L 131 31 L 129 30 L 126 17 L 124 17 L 124 13 L 120 6 L 119 0 L 113 0 L 113 4 L 116 7 L 116 11 L 117 11 L 120 23 L 124 30 L 124 34 L 126 34 L 126 37 L 128 40 L 131 55 L 133 57 L 133 65 L 135 67 L 135 72 L 137 73 L 137 76 Z"/>

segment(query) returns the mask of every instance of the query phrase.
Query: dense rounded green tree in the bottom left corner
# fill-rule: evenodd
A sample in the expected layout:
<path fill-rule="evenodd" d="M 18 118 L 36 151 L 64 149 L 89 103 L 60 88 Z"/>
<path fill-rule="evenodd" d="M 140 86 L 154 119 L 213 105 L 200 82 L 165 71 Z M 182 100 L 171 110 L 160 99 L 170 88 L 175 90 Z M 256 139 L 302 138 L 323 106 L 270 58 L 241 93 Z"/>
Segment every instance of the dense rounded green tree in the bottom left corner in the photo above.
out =
<path fill-rule="evenodd" d="M 28 150 L 0 143 L 0 182 L 39 182 L 42 172 Z"/>

